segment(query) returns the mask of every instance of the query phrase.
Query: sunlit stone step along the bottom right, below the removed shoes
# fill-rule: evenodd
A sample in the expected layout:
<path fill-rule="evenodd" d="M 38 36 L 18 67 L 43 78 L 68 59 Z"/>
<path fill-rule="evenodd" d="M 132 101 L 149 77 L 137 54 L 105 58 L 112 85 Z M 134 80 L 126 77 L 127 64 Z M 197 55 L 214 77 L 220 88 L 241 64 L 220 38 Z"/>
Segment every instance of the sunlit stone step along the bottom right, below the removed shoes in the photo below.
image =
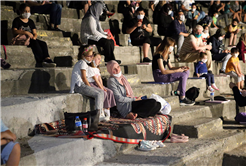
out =
<path fill-rule="evenodd" d="M 223 153 L 244 142 L 245 132 L 223 131 L 206 138 L 192 138 L 181 144 L 167 140 L 164 142 L 165 148 L 148 153 L 132 148 L 96 165 L 222 165 Z"/>

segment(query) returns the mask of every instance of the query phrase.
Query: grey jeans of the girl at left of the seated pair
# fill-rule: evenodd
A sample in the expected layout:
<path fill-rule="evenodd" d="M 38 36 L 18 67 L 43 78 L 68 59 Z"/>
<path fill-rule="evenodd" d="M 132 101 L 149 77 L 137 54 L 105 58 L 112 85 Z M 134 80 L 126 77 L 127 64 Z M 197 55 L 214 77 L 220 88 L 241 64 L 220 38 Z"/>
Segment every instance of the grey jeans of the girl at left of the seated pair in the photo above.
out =
<path fill-rule="evenodd" d="M 94 87 L 90 87 L 90 86 L 83 84 L 80 87 L 75 85 L 74 92 L 94 98 L 95 99 L 95 108 L 97 110 L 103 109 L 103 101 L 104 101 L 103 90 L 98 90 Z"/>

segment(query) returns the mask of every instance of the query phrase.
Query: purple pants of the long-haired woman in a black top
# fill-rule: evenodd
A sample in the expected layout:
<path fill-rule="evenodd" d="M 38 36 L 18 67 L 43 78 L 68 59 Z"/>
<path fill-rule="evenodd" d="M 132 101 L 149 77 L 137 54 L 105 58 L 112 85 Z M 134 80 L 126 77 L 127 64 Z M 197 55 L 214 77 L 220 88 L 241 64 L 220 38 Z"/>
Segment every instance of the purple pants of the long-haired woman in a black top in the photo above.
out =
<path fill-rule="evenodd" d="M 186 82 L 189 77 L 190 71 L 173 73 L 173 74 L 162 74 L 161 70 L 157 69 L 153 71 L 153 77 L 155 82 L 175 82 L 179 81 L 178 91 L 180 91 L 180 96 L 185 96 Z"/>

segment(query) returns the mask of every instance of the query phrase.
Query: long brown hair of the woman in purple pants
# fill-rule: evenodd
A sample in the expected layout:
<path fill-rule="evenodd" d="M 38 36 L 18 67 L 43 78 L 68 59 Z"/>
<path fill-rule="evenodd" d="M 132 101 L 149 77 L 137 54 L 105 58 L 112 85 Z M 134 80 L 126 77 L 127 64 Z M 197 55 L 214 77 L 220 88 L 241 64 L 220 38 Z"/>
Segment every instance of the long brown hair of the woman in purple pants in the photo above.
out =
<path fill-rule="evenodd" d="M 168 48 L 169 46 L 174 46 L 174 44 L 175 44 L 175 40 L 173 38 L 165 37 L 165 39 L 161 42 L 161 44 L 156 49 L 154 55 L 161 54 L 164 59 L 167 59 L 168 52 L 169 52 Z"/>

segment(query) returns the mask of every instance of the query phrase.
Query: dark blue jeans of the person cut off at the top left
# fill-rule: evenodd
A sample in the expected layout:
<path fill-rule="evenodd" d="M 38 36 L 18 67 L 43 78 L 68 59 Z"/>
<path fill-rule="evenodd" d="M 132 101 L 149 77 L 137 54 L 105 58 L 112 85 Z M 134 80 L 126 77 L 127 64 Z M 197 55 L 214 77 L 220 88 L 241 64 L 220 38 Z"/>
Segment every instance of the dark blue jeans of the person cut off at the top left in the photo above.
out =
<path fill-rule="evenodd" d="M 61 5 L 55 3 L 31 7 L 32 13 L 49 14 L 50 23 L 54 25 L 61 24 L 61 11 L 62 11 Z"/>

